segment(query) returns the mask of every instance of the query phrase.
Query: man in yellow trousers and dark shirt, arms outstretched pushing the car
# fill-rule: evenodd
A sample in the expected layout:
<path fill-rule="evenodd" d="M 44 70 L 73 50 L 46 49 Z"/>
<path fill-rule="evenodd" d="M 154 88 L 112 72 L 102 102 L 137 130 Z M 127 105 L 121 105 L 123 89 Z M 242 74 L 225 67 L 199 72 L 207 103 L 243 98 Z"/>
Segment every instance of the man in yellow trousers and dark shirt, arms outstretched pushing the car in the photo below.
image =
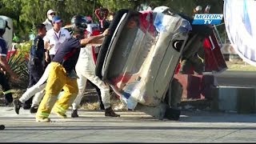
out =
<path fill-rule="evenodd" d="M 71 19 L 73 35 L 61 44 L 53 60 L 50 62 L 50 74 L 46 83 L 46 94 L 38 106 L 36 114 L 37 122 L 50 122 L 50 112 L 54 107 L 54 113 L 66 118 L 66 110 L 78 94 L 78 76 L 75 73 L 75 65 L 81 48 L 87 44 L 100 44 L 102 38 L 109 34 L 109 29 L 102 34 L 84 37 L 86 30 L 86 19 L 82 15 L 75 15 Z M 58 94 L 64 90 L 61 98 Z M 58 98 L 58 100 L 57 100 Z"/>

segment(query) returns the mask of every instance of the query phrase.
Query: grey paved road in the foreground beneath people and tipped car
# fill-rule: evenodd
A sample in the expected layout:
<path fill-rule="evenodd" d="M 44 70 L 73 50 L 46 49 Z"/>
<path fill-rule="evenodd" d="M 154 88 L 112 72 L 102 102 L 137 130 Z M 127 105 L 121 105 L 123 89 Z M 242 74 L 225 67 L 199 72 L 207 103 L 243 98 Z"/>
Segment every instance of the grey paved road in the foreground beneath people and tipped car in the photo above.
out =
<path fill-rule="evenodd" d="M 179 121 L 158 120 L 138 111 L 106 118 L 99 110 L 79 110 L 80 118 L 35 122 L 34 114 L 1 107 L 0 142 L 256 142 L 255 114 L 182 111 Z M 70 111 L 68 112 L 70 115 Z"/>

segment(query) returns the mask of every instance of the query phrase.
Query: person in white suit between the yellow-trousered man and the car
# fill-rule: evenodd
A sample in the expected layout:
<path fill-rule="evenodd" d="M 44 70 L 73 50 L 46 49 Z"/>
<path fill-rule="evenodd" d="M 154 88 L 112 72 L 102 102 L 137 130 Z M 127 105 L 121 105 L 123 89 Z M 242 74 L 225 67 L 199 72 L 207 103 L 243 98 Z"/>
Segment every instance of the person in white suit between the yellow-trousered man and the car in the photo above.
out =
<path fill-rule="evenodd" d="M 92 31 L 86 31 L 85 37 L 90 37 Z M 86 46 L 86 48 L 81 49 L 78 62 L 75 66 L 75 70 L 78 74 L 78 95 L 72 103 L 72 113 L 71 117 L 78 117 L 78 107 L 80 106 L 83 91 L 86 88 L 86 81 L 89 80 L 100 90 L 98 92 L 99 100 L 101 102 L 101 109 L 105 110 L 105 116 L 110 117 L 120 117 L 119 114 L 115 114 L 110 106 L 110 86 L 98 78 L 95 74 L 95 63 L 91 50 L 91 46 Z M 102 107 L 103 105 L 103 107 Z"/>

